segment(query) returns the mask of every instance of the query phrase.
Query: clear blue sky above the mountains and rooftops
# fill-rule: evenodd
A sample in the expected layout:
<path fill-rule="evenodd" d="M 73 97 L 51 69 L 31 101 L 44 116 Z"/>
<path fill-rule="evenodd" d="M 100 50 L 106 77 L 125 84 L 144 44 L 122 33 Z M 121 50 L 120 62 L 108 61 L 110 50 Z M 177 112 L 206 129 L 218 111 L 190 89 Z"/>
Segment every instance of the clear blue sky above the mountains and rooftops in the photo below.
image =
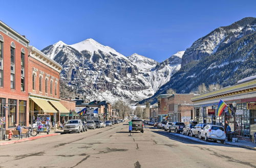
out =
<path fill-rule="evenodd" d="M 42 49 L 93 38 L 124 55 L 158 62 L 219 26 L 256 17 L 256 1 L 6 1 L 0 20 Z"/>

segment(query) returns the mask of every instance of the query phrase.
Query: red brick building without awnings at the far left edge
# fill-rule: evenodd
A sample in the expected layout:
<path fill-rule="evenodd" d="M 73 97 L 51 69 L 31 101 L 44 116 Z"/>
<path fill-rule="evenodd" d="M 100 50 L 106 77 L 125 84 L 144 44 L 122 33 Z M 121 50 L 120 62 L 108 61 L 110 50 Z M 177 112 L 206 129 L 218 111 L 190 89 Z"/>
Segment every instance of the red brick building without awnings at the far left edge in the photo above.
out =
<path fill-rule="evenodd" d="M 0 21 L 1 126 L 28 125 L 29 40 Z"/>

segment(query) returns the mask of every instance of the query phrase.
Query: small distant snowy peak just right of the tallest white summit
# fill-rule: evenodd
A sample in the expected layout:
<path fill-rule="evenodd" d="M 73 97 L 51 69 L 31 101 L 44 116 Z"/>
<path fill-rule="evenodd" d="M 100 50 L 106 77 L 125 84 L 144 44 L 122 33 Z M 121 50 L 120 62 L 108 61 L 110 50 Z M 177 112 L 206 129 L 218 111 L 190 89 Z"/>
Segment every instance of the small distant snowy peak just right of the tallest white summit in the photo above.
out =
<path fill-rule="evenodd" d="M 134 53 L 127 57 L 138 69 L 146 71 L 148 69 L 154 68 L 158 62 L 153 59 L 146 58 L 142 55 Z"/>

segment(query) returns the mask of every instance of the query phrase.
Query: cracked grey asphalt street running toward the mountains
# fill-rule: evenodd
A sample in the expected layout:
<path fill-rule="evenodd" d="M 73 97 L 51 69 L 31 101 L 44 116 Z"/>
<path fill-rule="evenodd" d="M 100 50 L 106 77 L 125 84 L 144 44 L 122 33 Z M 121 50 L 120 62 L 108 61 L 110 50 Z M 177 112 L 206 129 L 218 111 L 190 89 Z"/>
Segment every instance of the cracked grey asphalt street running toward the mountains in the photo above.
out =
<path fill-rule="evenodd" d="M 256 151 L 116 124 L 0 147 L 0 167 L 256 167 Z"/>

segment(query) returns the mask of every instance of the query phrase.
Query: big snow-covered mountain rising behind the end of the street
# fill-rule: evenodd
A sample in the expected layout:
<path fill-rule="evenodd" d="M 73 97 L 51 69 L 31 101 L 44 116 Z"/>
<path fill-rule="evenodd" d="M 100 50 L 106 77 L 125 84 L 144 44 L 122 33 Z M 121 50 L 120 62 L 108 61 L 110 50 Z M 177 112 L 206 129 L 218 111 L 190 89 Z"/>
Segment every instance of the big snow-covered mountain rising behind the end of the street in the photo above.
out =
<path fill-rule="evenodd" d="M 181 64 L 175 55 L 162 63 L 139 54 L 125 57 L 93 39 L 72 45 L 59 41 L 42 52 L 63 66 L 61 79 L 77 95 L 129 104 L 154 95 Z"/>

